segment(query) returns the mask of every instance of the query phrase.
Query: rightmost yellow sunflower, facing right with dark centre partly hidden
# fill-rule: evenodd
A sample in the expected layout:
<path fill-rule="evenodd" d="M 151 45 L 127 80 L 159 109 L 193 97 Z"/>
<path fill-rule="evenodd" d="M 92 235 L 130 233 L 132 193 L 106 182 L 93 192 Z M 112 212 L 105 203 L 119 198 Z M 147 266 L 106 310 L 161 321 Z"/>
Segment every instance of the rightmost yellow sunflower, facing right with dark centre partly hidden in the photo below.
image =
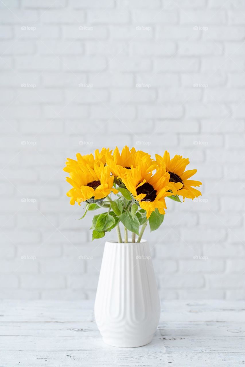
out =
<path fill-rule="evenodd" d="M 194 199 L 199 195 L 202 195 L 200 191 L 195 189 L 192 186 L 200 186 L 202 182 L 189 180 L 188 178 L 192 177 L 197 170 L 187 170 L 185 171 L 186 166 L 190 163 L 188 158 L 182 158 L 182 156 L 175 155 L 172 159 L 170 159 L 169 152 L 165 151 L 163 157 L 156 156 L 156 165 L 158 167 L 165 167 L 166 171 L 170 174 L 170 182 L 174 183 L 182 183 L 182 188 L 177 191 L 177 195 L 183 196 L 183 199 L 187 197 L 188 199 Z"/>

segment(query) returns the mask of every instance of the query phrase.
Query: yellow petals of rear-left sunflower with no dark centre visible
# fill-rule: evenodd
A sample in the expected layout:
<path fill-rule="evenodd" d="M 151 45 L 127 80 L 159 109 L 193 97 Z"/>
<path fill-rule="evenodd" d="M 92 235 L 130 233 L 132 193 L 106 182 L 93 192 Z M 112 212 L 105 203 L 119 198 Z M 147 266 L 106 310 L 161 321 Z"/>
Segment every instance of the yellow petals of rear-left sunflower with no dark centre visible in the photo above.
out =
<path fill-rule="evenodd" d="M 100 165 L 102 162 L 105 165 L 105 155 L 111 154 L 112 150 L 109 150 L 109 148 L 105 149 L 102 148 L 101 152 L 96 149 L 94 152 L 95 158 L 92 153 L 82 156 L 80 153 L 76 154 L 77 160 L 67 158 L 67 161 L 65 162 L 66 167 L 64 168 L 65 172 L 75 172 L 79 171 L 81 167 L 83 166 L 89 166 L 91 168 L 94 167 L 94 164 Z"/>

